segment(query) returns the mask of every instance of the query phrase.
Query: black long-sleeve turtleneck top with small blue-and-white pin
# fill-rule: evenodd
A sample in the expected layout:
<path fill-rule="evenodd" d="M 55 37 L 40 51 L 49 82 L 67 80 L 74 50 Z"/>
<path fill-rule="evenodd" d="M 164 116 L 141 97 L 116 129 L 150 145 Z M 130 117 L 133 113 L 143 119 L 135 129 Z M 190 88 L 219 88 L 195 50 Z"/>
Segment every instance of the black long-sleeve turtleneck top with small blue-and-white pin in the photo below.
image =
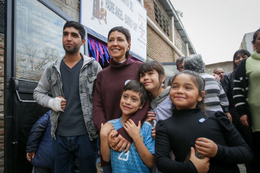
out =
<path fill-rule="evenodd" d="M 189 160 L 184 162 L 195 141 L 205 137 L 217 144 L 215 157 L 210 159 L 209 173 L 239 173 L 237 164 L 250 162 L 252 152 L 223 112 L 195 109 L 174 110 L 173 116 L 156 125 L 155 162 L 161 172 L 197 172 Z M 199 120 L 206 121 L 200 123 Z M 170 150 L 176 156 L 170 159 Z"/>

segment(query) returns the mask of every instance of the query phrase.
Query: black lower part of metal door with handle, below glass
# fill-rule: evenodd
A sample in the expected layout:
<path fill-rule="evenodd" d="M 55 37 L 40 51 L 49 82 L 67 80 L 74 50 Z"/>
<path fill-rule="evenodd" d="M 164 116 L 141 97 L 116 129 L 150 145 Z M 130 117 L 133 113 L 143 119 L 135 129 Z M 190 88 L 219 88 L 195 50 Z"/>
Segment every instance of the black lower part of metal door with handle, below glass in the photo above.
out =
<path fill-rule="evenodd" d="M 10 103 L 10 108 L 14 110 L 14 140 L 11 143 L 14 146 L 16 172 L 31 172 L 32 165 L 26 159 L 26 143 L 33 124 L 49 110 L 33 100 L 33 90 L 36 86 L 36 82 L 15 78 L 9 80 L 8 92 L 14 97 L 11 99 L 13 103 Z"/>

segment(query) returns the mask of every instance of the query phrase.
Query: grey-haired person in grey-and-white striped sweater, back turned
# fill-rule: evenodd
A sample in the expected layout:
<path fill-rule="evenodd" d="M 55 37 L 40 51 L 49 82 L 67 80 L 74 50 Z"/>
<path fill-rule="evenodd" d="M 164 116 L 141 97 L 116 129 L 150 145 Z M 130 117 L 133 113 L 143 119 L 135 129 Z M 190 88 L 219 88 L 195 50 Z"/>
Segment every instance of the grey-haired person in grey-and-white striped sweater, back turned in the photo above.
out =
<path fill-rule="evenodd" d="M 184 61 L 184 69 L 195 71 L 205 80 L 205 97 L 204 103 L 207 110 L 223 111 L 227 114 L 230 121 L 232 117 L 228 114 L 228 99 L 217 80 L 210 74 L 205 73 L 205 63 L 202 60 L 201 54 L 190 55 Z"/>

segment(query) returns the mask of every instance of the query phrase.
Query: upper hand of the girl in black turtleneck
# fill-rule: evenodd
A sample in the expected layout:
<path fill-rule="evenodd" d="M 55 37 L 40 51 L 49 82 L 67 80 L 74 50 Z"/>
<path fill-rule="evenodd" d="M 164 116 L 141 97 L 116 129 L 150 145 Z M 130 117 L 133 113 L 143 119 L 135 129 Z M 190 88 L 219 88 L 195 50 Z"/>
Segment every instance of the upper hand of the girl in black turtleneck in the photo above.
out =
<path fill-rule="evenodd" d="M 208 157 L 215 157 L 217 154 L 217 144 L 205 137 L 198 138 L 195 141 L 195 147 L 198 153 Z"/>

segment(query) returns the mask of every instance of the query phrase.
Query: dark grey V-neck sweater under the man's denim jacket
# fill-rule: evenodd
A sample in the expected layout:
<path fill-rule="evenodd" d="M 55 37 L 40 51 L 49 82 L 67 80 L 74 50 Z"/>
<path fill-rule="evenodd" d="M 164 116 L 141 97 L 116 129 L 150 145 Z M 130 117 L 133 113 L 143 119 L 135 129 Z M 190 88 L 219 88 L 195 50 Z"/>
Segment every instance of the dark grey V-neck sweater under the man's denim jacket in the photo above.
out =
<path fill-rule="evenodd" d="M 60 66 L 62 92 L 66 99 L 66 108 L 59 115 L 56 130 L 56 134 L 61 136 L 78 136 L 88 133 L 79 94 L 79 74 L 82 65 L 83 58 L 72 68 L 69 68 L 64 61 Z"/>

